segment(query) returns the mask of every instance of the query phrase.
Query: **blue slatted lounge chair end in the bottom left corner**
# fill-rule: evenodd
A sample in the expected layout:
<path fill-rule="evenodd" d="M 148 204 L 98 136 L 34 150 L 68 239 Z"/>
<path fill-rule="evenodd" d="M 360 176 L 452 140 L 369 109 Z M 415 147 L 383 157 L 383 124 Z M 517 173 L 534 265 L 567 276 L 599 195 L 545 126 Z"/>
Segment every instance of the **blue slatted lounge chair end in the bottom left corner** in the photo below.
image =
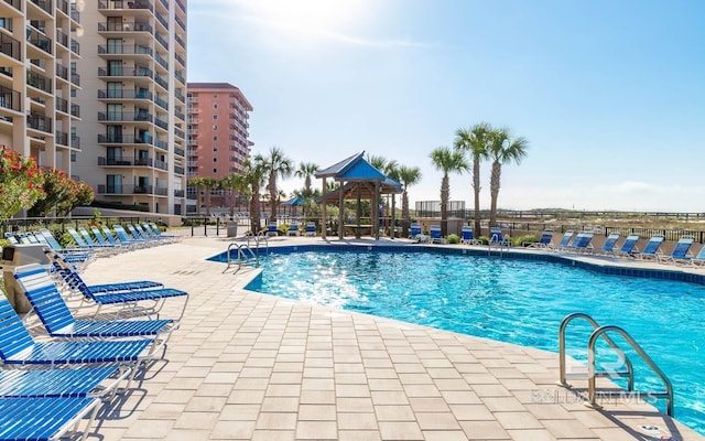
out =
<path fill-rule="evenodd" d="M 51 441 L 69 433 L 76 439 L 82 421 L 85 440 L 100 402 L 88 397 L 0 398 L 0 440 Z"/>

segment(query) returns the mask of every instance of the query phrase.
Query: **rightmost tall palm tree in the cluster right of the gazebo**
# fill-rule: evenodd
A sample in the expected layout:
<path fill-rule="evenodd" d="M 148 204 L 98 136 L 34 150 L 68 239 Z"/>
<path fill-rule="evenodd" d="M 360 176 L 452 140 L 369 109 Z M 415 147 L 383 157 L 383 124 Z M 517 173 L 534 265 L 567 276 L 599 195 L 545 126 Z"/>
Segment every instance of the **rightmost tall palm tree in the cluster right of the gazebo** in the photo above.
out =
<path fill-rule="evenodd" d="M 499 181 L 502 173 L 502 164 L 514 162 L 517 165 L 527 155 L 529 141 L 523 137 L 512 139 L 509 129 L 501 128 L 490 132 L 489 157 L 492 159 L 492 174 L 489 181 L 490 211 L 489 225 L 497 225 L 497 196 L 499 195 Z"/>

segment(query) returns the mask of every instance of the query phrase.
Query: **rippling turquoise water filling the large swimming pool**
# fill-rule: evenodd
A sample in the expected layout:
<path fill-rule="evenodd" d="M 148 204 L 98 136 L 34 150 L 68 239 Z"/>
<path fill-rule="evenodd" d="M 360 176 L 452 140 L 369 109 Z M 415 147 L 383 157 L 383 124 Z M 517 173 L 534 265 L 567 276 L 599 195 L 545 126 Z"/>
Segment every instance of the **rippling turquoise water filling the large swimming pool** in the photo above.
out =
<path fill-rule="evenodd" d="M 705 433 L 705 286 L 549 261 L 367 248 L 273 251 L 261 268 L 247 289 L 553 352 L 562 319 L 585 312 L 639 342 L 673 383 L 675 417 Z M 590 332 L 578 321 L 568 327 L 570 355 L 584 358 Z M 663 390 L 627 354 L 637 389 Z"/>

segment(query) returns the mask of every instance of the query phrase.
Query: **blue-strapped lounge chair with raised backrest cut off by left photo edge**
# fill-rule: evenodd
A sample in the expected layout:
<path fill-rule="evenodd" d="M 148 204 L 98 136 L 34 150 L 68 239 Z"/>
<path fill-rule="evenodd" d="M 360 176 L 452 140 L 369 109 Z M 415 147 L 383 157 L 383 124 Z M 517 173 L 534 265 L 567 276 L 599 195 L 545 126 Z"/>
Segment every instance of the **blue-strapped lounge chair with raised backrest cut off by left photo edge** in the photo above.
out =
<path fill-rule="evenodd" d="M 137 367 L 150 358 L 144 353 L 152 344 L 150 338 L 35 342 L 4 295 L 0 295 L 0 358 L 8 366 L 130 363 Z"/>

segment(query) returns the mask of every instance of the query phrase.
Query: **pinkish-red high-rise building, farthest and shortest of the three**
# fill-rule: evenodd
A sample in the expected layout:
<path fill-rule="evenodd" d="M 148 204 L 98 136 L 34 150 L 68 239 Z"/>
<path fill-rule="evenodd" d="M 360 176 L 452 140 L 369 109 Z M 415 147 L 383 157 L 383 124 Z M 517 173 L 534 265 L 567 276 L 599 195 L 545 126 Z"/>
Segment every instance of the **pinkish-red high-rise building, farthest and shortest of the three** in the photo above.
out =
<path fill-rule="evenodd" d="M 242 172 L 252 142 L 248 119 L 252 105 L 242 92 L 228 83 L 188 83 L 187 175 L 221 179 Z M 196 200 L 196 189 L 188 189 Z M 212 206 L 228 206 L 228 194 L 212 195 Z M 193 207 L 193 211 L 196 208 Z"/>

